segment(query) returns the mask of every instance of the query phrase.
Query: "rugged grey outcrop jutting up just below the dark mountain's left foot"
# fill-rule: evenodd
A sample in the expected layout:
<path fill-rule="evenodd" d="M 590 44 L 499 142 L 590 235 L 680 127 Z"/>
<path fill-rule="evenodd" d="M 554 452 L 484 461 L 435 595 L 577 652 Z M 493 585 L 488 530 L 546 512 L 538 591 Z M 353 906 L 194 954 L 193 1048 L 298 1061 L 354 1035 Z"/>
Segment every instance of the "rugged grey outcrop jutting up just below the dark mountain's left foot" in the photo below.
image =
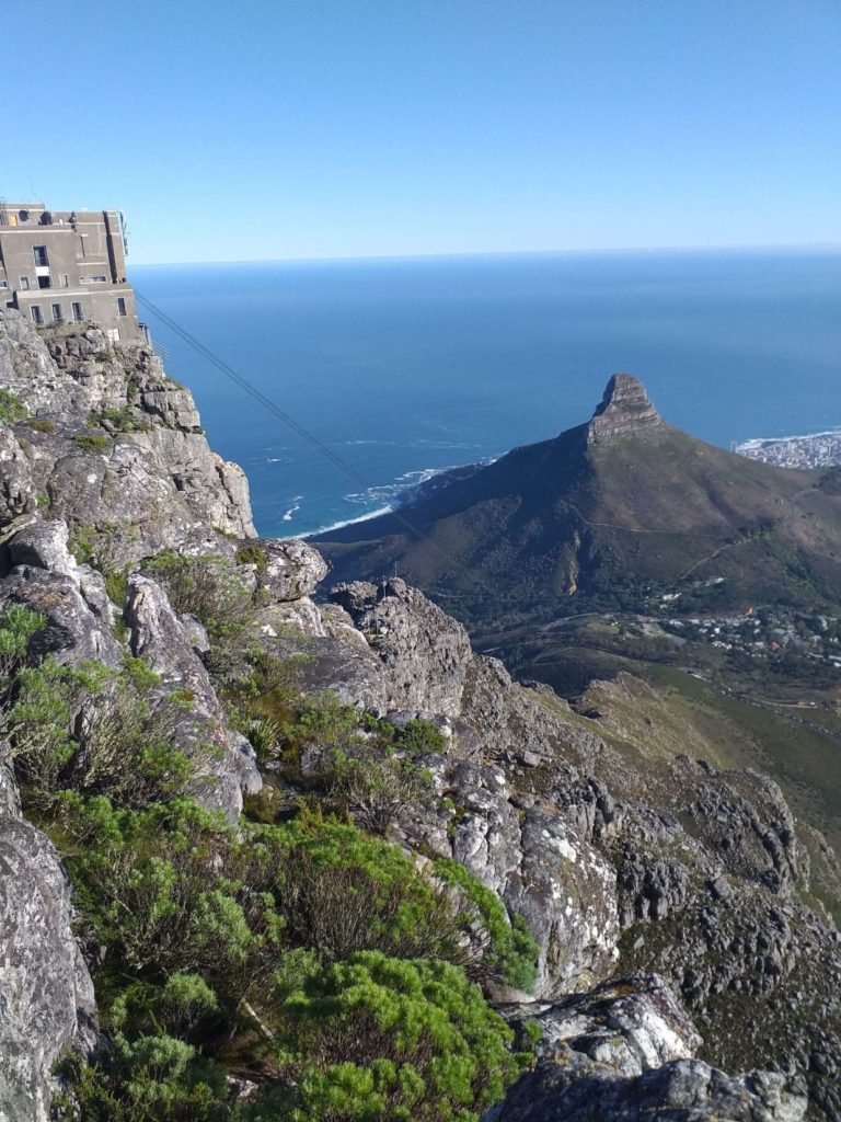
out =
<path fill-rule="evenodd" d="M 331 594 L 382 662 L 389 709 L 426 709 L 454 717 L 461 709 L 473 654 L 468 633 L 405 581 L 379 588 L 359 581 Z"/>

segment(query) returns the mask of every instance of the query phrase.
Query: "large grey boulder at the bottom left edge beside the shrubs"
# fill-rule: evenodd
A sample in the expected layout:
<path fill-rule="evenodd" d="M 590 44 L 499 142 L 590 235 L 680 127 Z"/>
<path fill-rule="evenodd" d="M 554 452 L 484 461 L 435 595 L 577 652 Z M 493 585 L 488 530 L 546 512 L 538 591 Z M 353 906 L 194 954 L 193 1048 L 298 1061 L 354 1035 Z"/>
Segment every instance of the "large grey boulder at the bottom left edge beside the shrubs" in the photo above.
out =
<path fill-rule="evenodd" d="M 93 985 L 71 931 L 71 886 L 52 843 L 0 817 L 0 1120 L 46 1122 L 50 1068 L 95 1045 Z"/>

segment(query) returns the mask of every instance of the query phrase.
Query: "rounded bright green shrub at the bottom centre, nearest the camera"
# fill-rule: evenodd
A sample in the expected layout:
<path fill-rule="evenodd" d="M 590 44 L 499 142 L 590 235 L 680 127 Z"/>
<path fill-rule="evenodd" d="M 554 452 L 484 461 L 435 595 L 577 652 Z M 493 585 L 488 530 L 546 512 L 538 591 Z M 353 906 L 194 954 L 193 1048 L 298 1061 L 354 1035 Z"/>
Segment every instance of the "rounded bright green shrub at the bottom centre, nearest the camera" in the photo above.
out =
<path fill-rule="evenodd" d="M 520 1070 L 511 1030 L 445 963 L 352 955 L 309 973 L 280 1013 L 286 1086 L 252 1122 L 471 1122 Z"/>

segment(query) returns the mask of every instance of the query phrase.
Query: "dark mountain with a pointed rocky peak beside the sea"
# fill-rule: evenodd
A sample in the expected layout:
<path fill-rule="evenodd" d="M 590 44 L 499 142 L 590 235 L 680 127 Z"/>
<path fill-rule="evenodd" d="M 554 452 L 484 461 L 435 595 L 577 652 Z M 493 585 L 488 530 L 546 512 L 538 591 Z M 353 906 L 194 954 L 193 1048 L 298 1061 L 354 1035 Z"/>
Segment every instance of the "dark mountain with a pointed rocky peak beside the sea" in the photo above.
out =
<path fill-rule="evenodd" d="M 405 509 L 320 536 L 336 577 L 397 565 L 458 595 L 453 610 L 474 620 L 499 618 L 501 604 L 508 616 L 552 615 L 572 595 L 628 608 L 669 592 L 733 608 L 841 600 L 832 473 L 695 440 L 630 375 L 611 378 L 588 424 L 433 482 Z"/>

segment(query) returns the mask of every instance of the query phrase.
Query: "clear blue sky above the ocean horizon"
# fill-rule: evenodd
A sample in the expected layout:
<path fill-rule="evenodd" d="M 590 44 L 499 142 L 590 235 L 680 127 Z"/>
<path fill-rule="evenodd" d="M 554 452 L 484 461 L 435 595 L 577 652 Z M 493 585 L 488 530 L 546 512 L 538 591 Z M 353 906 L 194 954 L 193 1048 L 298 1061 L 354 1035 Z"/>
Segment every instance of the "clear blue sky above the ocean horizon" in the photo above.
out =
<path fill-rule="evenodd" d="M 2 22 L 0 197 L 122 208 L 135 263 L 841 242 L 841 0 L 6 0 Z"/>

